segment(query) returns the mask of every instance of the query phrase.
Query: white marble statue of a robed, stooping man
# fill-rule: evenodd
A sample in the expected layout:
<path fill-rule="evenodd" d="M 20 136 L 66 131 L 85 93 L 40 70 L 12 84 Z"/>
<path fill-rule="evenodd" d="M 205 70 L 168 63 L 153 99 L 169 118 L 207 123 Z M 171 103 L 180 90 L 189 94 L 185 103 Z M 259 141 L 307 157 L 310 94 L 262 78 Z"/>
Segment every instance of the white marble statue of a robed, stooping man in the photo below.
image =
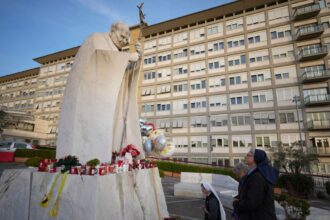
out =
<path fill-rule="evenodd" d="M 122 51 L 129 41 L 129 28 L 115 23 L 110 33 L 93 33 L 80 47 L 62 103 L 56 158 L 106 162 L 128 144 L 144 156 L 137 106 L 140 44 L 137 53 Z"/>

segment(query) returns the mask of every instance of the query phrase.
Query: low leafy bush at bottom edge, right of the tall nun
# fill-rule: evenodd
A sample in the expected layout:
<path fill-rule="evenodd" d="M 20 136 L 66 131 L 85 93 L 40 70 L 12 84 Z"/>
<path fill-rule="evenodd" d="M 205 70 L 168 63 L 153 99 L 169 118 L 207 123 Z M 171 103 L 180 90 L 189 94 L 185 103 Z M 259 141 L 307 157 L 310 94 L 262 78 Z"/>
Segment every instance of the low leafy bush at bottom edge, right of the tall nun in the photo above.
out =
<path fill-rule="evenodd" d="M 288 194 L 275 195 L 275 200 L 284 208 L 287 219 L 304 219 L 309 215 L 309 203 Z"/>

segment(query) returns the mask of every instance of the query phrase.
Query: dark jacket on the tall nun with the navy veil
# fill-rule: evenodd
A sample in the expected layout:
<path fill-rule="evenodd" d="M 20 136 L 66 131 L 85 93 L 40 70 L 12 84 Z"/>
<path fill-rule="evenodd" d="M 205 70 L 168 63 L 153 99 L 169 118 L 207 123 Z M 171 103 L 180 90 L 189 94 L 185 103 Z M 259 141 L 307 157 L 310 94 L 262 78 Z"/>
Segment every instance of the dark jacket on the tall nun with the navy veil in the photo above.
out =
<path fill-rule="evenodd" d="M 273 186 L 258 169 L 246 176 L 236 206 L 240 220 L 276 219 Z"/>

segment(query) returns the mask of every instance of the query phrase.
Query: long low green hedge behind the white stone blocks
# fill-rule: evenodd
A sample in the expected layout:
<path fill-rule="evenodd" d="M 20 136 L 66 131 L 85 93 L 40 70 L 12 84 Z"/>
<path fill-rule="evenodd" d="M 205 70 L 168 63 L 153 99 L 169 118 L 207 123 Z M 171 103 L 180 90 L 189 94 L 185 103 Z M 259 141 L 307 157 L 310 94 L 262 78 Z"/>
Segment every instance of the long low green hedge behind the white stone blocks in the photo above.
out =
<path fill-rule="evenodd" d="M 206 167 L 200 165 L 189 165 L 189 164 L 180 164 L 173 163 L 168 161 L 157 161 L 158 169 L 163 171 L 170 171 L 174 173 L 180 172 L 192 172 L 192 173 L 215 173 L 231 176 L 237 179 L 236 175 L 232 170 L 222 169 L 217 167 Z"/>

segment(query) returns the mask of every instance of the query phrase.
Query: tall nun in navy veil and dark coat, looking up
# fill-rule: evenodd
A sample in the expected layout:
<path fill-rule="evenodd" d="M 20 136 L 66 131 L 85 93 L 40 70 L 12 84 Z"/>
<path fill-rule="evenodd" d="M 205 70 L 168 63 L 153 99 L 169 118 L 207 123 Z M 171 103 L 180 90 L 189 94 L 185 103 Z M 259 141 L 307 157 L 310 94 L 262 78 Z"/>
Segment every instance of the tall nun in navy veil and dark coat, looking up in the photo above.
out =
<path fill-rule="evenodd" d="M 263 150 L 251 149 L 246 156 L 246 163 L 250 171 L 241 186 L 239 200 L 233 204 L 239 219 L 276 219 L 273 187 L 278 171 L 268 165 L 268 158 Z"/>

